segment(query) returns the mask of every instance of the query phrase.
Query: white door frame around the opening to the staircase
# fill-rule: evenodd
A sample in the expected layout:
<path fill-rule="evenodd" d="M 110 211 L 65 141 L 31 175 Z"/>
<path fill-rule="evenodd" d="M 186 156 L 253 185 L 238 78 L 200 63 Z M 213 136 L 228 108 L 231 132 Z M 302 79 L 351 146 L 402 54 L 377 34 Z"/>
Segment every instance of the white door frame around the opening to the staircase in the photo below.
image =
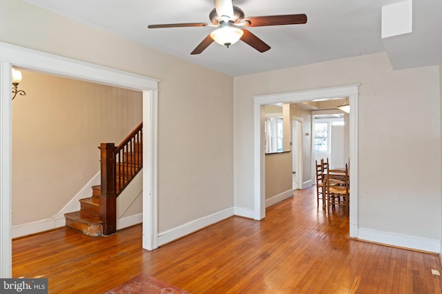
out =
<path fill-rule="evenodd" d="M 157 248 L 157 99 L 160 80 L 0 42 L 0 277 L 12 277 L 12 65 L 143 93 L 143 247 Z M 30 93 L 28 93 L 28 96 Z"/>

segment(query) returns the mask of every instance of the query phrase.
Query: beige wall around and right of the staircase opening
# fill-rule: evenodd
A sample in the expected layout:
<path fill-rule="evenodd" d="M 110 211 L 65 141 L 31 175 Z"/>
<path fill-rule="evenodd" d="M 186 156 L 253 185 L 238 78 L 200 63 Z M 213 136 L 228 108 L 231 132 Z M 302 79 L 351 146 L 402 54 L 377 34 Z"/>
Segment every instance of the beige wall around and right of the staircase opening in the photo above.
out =
<path fill-rule="evenodd" d="M 158 95 L 160 232 L 233 207 L 231 76 L 22 1 L 2 0 L 1 5 L 2 42 L 161 80 Z"/>

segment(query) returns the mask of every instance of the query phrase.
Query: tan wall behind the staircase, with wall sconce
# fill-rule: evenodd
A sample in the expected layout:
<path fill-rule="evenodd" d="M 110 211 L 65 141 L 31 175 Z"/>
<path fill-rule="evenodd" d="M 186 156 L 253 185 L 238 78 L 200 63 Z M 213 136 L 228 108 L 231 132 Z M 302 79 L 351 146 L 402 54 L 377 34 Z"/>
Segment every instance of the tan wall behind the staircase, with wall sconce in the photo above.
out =
<path fill-rule="evenodd" d="M 12 225 L 57 215 L 99 171 L 97 146 L 118 145 L 142 122 L 141 92 L 21 74 L 26 96 L 12 101 Z"/>

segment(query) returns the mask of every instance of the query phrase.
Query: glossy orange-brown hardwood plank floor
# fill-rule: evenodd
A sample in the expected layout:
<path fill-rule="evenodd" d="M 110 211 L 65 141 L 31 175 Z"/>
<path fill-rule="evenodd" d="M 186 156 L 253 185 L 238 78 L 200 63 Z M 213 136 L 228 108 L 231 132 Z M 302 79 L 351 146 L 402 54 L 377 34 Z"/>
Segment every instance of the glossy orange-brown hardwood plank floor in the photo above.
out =
<path fill-rule="evenodd" d="M 348 238 L 342 209 L 327 216 L 315 187 L 142 249 L 142 226 L 91 238 L 57 229 L 12 242 L 13 277 L 48 277 L 49 293 L 104 293 L 140 273 L 191 293 L 442 293 L 439 256 Z"/>

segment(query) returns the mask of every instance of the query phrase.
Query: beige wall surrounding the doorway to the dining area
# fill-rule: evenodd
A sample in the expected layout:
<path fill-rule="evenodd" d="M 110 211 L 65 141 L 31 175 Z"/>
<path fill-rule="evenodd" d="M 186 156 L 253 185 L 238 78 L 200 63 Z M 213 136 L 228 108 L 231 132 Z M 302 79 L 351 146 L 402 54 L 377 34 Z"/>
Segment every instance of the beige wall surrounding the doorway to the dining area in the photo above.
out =
<path fill-rule="evenodd" d="M 441 240 L 439 67 L 393 71 L 385 53 L 236 78 L 236 205 L 253 209 L 252 97 L 356 83 L 359 227 Z"/>

